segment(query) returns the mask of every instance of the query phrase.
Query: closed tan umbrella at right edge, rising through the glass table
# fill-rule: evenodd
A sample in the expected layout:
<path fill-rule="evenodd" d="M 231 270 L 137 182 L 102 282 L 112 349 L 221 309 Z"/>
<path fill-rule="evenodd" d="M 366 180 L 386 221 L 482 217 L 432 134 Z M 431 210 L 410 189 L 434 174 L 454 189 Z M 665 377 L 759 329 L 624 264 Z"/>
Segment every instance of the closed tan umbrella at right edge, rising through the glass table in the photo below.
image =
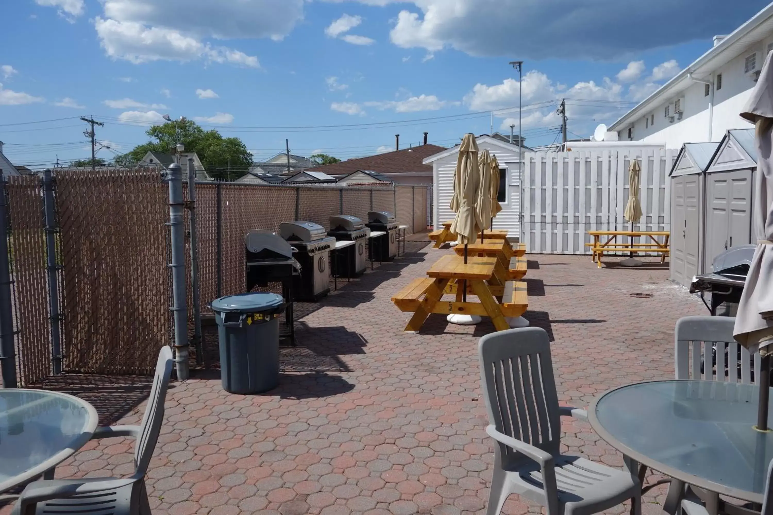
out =
<path fill-rule="evenodd" d="M 754 174 L 752 201 L 752 236 L 757 249 L 751 259 L 744 291 L 735 317 L 735 339 L 754 352 L 759 349 L 761 370 L 758 372 L 760 398 L 758 429 L 768 429 L 768 395 L 770 389 L 770 355 L 773 354 L 773 66 L 771 54 L 765 59 L 762 73 L 741 113 L 755 125 L 757 172 Z"/>

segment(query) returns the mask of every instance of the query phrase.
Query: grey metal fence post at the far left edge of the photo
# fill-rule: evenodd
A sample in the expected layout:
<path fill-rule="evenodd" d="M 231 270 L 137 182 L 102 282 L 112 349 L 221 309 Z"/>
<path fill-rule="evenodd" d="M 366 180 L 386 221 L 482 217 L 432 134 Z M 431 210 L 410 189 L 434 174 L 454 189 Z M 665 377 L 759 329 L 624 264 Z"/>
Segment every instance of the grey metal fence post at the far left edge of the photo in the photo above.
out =
<path fill-rule="evenodd" d="M 13 342 L 13 301 L 11 263 L 8 253 L 8 213 L 5 203 L 5 178 L 0 168 L 0 370 L 4 388 L 16 388 L 16 353 Z"/>

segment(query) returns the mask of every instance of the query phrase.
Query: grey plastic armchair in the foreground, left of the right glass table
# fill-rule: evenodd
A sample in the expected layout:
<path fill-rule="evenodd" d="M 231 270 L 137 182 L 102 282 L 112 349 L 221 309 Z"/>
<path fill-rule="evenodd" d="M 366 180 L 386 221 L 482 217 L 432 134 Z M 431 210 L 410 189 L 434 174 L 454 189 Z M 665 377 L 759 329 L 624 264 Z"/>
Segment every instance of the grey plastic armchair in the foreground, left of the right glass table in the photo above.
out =
<path fill-rule="evenodd" d="M 486 432 L 498 442 L 488 515 L 497 515 L 511 493 L 547 507 L 547 515 L 590 515 L 628 499 L 633 513 L 641 513 L 641 489 L 631 473 L 560 454 L 560 416 L 585 420 L 587 413 L 559 407 L 545 330 L 487 334 L 478 354 Z"/>

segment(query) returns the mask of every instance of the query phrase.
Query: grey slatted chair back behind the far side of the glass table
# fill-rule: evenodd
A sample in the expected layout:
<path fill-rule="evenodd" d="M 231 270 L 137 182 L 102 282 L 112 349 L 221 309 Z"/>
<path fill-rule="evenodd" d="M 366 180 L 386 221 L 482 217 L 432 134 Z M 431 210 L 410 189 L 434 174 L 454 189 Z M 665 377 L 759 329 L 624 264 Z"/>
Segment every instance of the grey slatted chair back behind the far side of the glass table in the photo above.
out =
<path fill-rule="evenodd" d="M 674 329 L 676 379 L 732 383 L 740 379 L 741 383 L 754 383 L 753 372 L 760 369 L 760 354 L 754 353 L 752 358 L 746 347 L 735 341 L 734 326 L 735 317 L 683 317 L 677 320 Z M 752 359 L 754 368 L 751 367 Z"/>

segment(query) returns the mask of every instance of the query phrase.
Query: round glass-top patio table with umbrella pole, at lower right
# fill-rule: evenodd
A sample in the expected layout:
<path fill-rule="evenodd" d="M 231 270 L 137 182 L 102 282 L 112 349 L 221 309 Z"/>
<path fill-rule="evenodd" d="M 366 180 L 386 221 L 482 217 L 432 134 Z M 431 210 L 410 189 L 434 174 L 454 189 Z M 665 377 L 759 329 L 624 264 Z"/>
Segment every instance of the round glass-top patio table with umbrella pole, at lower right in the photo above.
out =
<path fill-rule="evenodd" d="M 706 490 L 699 492 L 710 513 L 732 511 L 717 494 L 762 503 L 773 459 L 773 432 L 753 429 L 758 392 L 756 385 L 720 381 L 644 382 L 596 398 L 588 419 L 629 459 L 672 477 L 675 490 Z"/>

